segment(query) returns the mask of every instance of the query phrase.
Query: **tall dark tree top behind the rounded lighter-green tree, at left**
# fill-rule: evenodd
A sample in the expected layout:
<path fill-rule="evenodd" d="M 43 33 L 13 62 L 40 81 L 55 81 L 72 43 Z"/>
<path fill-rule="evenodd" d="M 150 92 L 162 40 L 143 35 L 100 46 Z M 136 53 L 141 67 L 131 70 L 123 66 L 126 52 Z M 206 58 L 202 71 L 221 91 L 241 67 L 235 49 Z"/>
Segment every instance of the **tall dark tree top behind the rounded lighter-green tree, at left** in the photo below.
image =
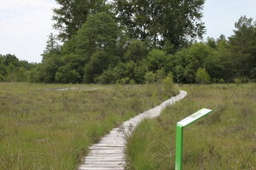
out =
<path fill-rule="evenodd" d="M 90 14 L 105 11 L 106 0 L 55 0 L 54 27 L 62 41 L 70 39 L 81 28 Z"/>

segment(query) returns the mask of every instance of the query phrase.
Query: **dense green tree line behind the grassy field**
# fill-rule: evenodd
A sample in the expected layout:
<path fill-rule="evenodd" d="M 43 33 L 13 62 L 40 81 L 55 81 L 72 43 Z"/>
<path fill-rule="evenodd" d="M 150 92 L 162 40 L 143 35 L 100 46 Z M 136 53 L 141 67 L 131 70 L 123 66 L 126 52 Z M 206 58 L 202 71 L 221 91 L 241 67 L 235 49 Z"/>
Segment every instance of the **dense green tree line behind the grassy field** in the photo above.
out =
<path fill-rule="evenodd" d="M 198 42 L 206 31 L 204 0 L 56 2 L 59 34 L 49 34 L 42 62 L 25 69 L 26 81 L 154 83 L 167 75 L 179 83 L 256 80 L 256 23 L 246 16 L 232 36 Z M 0 72 L 0 81 L 12 81 L 7 75 Z"/>

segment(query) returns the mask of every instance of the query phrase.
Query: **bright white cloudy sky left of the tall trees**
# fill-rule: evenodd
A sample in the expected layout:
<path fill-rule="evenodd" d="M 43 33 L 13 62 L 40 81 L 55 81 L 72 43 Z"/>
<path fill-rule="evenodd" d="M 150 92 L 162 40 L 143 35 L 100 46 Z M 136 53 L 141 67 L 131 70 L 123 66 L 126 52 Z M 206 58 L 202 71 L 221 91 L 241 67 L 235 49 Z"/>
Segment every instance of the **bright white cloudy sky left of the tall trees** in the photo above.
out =
<path fill-rule="evenodd" d="M 53 0 L 9 0 L 0 5 L 0 54 L 40 62 L 47 35 L 53 31 L 55 6 Z"/>

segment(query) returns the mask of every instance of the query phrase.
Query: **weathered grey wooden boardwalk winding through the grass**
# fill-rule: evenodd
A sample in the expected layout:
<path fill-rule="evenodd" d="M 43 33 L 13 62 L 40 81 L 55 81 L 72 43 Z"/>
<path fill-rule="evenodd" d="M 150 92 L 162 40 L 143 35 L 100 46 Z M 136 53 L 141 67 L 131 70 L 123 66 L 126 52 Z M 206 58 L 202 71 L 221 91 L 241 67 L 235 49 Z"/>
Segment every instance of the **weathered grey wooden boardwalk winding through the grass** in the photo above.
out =
<path fill-rule="evenodd" d="M 160 116 L 160 112 L 166 106 L 173 105 L 186 95 L 187 92 L 180 91 L 180 94 L 166 100 L 161 105 L 144 111 L 129 121 L 124 122 L 118 128 L 113 128 L 97 144 L 90 146 L 89 154 L 84 157 L 84 163 L 79 166 L 79 170 L 125 170 L 126 137 L 131 135 L 135 127 L 144 119 Z"/>

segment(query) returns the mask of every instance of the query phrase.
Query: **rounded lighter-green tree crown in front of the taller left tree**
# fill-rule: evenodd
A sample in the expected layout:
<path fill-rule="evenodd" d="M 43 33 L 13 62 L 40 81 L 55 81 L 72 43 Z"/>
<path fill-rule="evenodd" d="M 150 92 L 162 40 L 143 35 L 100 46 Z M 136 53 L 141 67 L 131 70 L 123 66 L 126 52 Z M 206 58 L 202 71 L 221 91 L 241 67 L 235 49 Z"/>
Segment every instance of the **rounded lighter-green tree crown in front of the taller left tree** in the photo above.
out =
<path fill-rule="evenodd" d="M 85 63 L 96 51 L 114 54 L 117 37 L 117 24 L 109 14 L 90 15 L 76 36 L 76 53 L 84 55 Z"/>

